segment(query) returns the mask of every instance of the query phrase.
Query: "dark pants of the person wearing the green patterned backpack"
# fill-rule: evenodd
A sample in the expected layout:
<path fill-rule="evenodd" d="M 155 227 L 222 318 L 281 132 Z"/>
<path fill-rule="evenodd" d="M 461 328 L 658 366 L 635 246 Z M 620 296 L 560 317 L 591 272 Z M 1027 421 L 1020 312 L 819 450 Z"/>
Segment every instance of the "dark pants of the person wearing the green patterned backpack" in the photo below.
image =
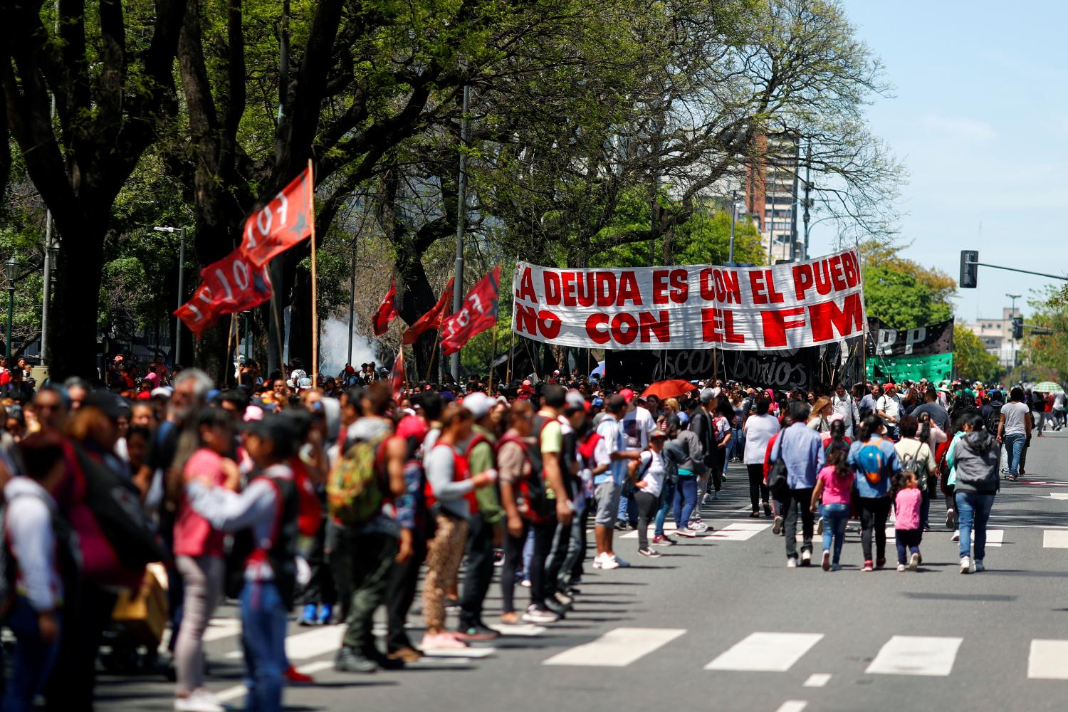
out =
<path fill-rule="evenodd" d="M 347 648 L 373 651 L 375 611 L 386 600 L 397 538 L 390 534 L 357 534 L 331 524 L 327 548 L 347 626 L 342 643 Z"/>

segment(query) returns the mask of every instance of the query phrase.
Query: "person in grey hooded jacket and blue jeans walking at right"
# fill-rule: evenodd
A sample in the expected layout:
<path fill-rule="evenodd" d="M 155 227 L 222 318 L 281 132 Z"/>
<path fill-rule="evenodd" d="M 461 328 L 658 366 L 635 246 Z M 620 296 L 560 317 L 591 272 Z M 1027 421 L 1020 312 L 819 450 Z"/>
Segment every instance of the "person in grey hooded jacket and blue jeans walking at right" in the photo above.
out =
<path fill-rule="evenodd" d="M 978 413 L 963 417 L 964 436 L 955 440 L 946 454 L 946 462 L 957 477 L 958 533 L 960 534 L 960 572 L 972 571 L 972 533 L 975 533 L 975 572 L 986 570 L 987 520 L 1001 486 L 998 465 L 1001 447 L 987 430 Z"/>

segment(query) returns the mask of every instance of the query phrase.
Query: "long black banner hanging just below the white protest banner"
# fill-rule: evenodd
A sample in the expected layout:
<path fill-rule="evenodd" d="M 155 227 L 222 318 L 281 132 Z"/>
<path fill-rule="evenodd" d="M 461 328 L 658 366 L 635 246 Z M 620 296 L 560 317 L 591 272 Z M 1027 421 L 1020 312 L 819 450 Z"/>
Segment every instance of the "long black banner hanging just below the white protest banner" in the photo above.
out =
<path fill-rule="evenodd" d="M 813 390 L 836 381 L 851 385 L 861 377 L 861 338 L 795 351 L 607 351 L 604 378 L 642 385 L 671 378 L 721 378 L 776 391 Z"/>

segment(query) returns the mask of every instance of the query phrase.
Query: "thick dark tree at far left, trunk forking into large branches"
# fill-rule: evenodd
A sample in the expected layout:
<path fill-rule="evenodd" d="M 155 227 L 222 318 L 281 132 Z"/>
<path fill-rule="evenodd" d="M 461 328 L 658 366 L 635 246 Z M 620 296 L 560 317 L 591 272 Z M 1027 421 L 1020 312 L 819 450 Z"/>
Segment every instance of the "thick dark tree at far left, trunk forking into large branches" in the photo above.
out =
<path fill-rule="evenodd" d="M 0 139 L 6 156 L 10 130 L 61 238 L 49 328 L 63 347 L 53 371 L 95 376 L 111 208 L 160 123 L 177 111 L 172 67 L 186 3 L 70 0 L 59 10 L 57 18 L 43 0 L 0 4 Z M 7 163 L 0 158 L 0 187 Z"/>

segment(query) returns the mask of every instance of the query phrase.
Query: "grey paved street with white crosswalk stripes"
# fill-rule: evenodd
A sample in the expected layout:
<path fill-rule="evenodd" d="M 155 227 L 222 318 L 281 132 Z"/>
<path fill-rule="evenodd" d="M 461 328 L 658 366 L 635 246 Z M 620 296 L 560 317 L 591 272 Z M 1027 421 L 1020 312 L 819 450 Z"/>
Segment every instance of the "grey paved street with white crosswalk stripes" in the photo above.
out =
<path fill-rule="evenodd" d="M 441 712 L 1063 710 L 1066 459 L 1068 436 L 1035 439 L 1026 481 L 1006 484 L 995 502 L 989 568 L 970 576 L 958 573 L 941 501 L 916 573 L 890 567 L 862 574 L 855 533 L 841 572 L 788 570 L 770 520 L 748 518 L 744 475 L 735 464 L 727 496 L 705 510 L 716 536 L 682 539 L 643 561 L 633 554 L 637 540 L 625 537 L 616 550 L 635 566 L 588 570 L 576 611 L 546 629 L 525 627 L 464 658 L 361 677 L 332 670 L 339 627 L 293 626 L 289 656 L 317 684 L 288 689 L 285 701 L 298 710 Z M 494 583 L 487 621 L 499 602 Z M 209 681 L 240 708 L 233 614 L 226 607 L 209 629 Z M 410 620 L 419 627 L 417 614 Z M 99 693 L 101 709 L 168 710 L 173 685 L 105 676 Z"/>

